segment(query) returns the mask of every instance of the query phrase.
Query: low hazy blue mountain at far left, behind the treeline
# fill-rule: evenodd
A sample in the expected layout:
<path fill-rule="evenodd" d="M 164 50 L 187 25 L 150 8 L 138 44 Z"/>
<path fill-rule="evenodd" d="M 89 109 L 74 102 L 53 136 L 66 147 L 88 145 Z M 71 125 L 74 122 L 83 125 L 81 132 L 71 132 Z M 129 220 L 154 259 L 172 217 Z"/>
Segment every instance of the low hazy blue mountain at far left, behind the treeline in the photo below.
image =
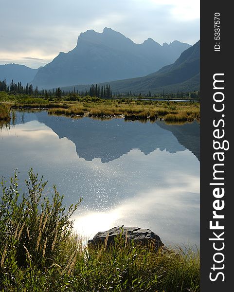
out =
<path fill-rule="evenodd" d="M 6 78 L 7 84 L 10 84 L 13 79 L 15 83 L 21 82 L 22 85 L 26 85 L 33 81 L 37 71 L 38 69 L 18 64 L 0 65 L 0 80 Z"/>

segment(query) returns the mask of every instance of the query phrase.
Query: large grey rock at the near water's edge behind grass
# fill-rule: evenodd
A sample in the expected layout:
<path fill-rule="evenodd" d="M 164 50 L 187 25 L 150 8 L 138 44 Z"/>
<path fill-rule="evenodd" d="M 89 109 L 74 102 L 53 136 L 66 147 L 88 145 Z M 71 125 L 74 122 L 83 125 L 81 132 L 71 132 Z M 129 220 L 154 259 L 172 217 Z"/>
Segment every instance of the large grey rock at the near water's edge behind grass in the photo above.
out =
<path fill-rule="evenodd" d="M 161 238 L 151 231 L 150 229 L 142 229 L 139 227 L 114 227 L 107 231 L 98 232 L 93 239 L 88 241 L 89 247 L 101 247 L 107 241 L 107 247 L 115 242 L 115 237 L 120 236 L 122 234 L 122 238 L 129 243 L 131 240 L 134 241 L 135 244 L 140 244 L 142 246 L 152 245 L 158 250 L 159 247 L 163 246 Z"/>

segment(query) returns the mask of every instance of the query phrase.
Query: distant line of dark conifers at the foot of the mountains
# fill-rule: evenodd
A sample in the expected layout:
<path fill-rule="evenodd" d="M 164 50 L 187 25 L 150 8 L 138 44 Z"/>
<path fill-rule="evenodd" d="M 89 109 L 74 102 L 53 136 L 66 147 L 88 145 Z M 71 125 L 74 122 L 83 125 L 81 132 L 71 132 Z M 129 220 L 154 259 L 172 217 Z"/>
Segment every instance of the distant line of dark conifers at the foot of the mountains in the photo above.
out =
<path fill-rule="evenodd" d="M 136 97 L 138 99 L 144 99 L 144 98 L 162 98 L 162 99 L 199 99 L 200 92 L 199 91 L 177 91 L 165 93 L 164 91 L 162 93 L 155 93 L 151 94 L 151 91 L 148 93 L 135 93 L 135 92 L 127 92 L 127 93 L 112 93 L 112 90 L 110 88 L 109 84 L 106 84 L 104 86 L 100 86 L 98 84 L 92 84 L 90 86 L 90 89 L 85 89 L 85 91 L 75 91 L 75 87 L 73 88 L 73 91 L 62 91 L 59 87 L 53 90 L 38 90 L 37 86 L 34 88 L 33 84 L 27 84 L 26 86 L 23 86 L 21 82 L 15 83 L 13 80 L 11 81 L 10 86 L 7 85 L 6 79 L 3 81 L 0 81 L 0 91 L 10 92 L 13 94 L 29 94 L 34 96 L 41 96 L 45 98 L 60 98 L 61 96 L 69 96 L 69 99 L 72 101 L 75 101 L 77 99 L 77 95 L 79 96 L 87 96 L 90 95 L 91 97 L 99 97 L 99 98 L 133 98 Z"/>

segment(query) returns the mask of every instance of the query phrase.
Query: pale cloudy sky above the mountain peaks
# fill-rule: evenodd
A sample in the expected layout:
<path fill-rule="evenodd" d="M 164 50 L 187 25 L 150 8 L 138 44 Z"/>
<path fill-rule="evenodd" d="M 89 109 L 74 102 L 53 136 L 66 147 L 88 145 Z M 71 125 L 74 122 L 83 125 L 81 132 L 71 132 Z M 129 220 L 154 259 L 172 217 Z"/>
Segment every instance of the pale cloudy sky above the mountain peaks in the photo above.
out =
<path fill-rule="evenodd" d="M 81 32 L 112 28 L 135 43 L 199 40 L 199 0 L 0 0 L 0 64 L 38 68 Z"/>

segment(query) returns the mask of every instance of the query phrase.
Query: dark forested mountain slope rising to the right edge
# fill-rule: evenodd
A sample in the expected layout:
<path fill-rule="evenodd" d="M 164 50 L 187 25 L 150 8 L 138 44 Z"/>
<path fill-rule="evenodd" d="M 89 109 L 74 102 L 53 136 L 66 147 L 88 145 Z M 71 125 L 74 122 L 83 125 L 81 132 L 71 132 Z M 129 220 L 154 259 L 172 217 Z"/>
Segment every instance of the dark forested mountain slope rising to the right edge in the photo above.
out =
<path fill-rule="evenodd" d="M 185 50 L 175 63 L 140 78 L 110 82 L 115 92 L 152 93 L 199 90 L 200 41 Z"/>

